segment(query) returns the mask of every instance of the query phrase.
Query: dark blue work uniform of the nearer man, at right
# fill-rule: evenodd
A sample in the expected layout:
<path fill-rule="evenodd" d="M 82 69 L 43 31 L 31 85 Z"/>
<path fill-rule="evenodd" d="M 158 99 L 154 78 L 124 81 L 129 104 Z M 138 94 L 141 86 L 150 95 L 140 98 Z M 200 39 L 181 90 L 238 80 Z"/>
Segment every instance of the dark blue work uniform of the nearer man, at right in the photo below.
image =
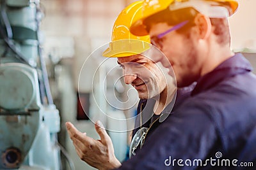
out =
<path fill-rule="evenodd" d="M 202 76 L 191 97 L 118 169 L 256 169 L 256 77 L 250 63 L 237 53 Z"/>

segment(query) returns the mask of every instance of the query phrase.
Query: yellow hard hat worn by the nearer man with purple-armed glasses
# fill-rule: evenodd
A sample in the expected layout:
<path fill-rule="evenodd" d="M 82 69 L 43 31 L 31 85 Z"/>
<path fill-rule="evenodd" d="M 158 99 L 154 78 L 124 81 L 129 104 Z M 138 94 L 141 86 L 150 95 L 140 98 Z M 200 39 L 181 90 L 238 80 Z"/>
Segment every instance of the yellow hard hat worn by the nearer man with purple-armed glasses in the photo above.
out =
<path fill-rule="evenodd" d="M 221 3 L 229 4 L 232 11 L 228 11 L 227 8 L 220 8 Z M 131 33 L 136 36 L 145 36 L 148 34 L 145 25 L 143 25 L 143 20 L 158 13 L 159 11 L 166 10 L 179 10 L 181 8 L 192 7 L 198 10 L 200 13 L 208 15 L 208 17 L 220 17 L 220 12 L 226 12 L 226 16 L 231 16 L 236 12 L 238 8 L 238 3 L 236 0 L 143 0 L 143 9 L 141 18 L 134 20 L 131 25 Z M 206 8 L 207 7 L 207 8 Z M 212 10 L 214 9 L 214 10 Z M 222 16 L 224 17 L 224 16 Z"/>

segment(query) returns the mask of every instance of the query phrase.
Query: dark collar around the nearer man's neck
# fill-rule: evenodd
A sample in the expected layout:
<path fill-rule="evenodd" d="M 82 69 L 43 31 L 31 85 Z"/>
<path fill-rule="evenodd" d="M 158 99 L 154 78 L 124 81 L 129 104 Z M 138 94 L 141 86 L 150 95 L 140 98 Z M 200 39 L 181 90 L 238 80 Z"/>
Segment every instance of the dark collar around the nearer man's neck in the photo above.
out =
<path fill-rule="evenodd" d="M 236 53 L 236 55 L 222 62 L 210 73 L 199 78 L 195 89 L 191 92 L 191 96 L 195 96 L 200 92 L 211 89 L 226 78 L 237 74 L 243 74 L 248 71 L 252 71 L 250 62 L 248 62 L 241 53 Z"/>

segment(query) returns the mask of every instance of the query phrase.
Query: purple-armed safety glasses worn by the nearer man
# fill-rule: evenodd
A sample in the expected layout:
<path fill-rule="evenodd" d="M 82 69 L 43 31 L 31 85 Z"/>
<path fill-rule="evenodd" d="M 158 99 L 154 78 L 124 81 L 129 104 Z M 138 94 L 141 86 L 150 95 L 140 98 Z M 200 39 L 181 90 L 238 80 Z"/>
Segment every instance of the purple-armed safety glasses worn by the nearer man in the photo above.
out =
<path fill-rule="evenodd" d="M 152 36 L 150 38 L 151 44 L 156 46 L 159 49 L 163 48 L 163 37 L 172 31 L 176 31 L 177 29 L 180 29 L 181 27 L 186 25 L 188 22 L 189 22 L 188 20 L 184 22 L 180 22 L 180 24 L 174 25 L 171 29 L 164 31 L 163 33 L 158 34 L 157 36 Z"/>

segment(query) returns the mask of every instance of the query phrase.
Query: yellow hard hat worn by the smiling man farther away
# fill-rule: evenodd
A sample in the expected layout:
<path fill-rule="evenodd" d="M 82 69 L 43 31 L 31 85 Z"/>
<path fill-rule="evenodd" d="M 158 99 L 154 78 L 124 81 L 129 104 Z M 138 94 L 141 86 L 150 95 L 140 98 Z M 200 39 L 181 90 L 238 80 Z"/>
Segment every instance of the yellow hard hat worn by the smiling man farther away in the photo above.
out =
<path fill-rule="evenodd" d="M 141 18 L 143 1 L 127 6 L 116 18 L 109 47 L 102 53 L 104 57 L 127 57 L 145 52 L 150 48 L 150 37 L 134 36 L 130 27 L 134 20 Z"/>

